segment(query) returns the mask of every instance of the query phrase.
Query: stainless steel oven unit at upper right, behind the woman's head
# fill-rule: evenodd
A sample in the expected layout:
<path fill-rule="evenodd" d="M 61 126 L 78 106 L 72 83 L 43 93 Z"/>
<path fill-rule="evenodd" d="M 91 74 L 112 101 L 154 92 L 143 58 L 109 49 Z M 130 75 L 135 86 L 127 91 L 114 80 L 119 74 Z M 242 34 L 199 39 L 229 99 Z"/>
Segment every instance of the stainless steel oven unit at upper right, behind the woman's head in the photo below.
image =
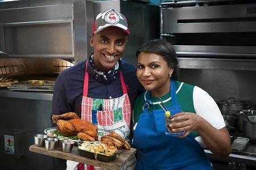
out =
<path fill-rule="evenodd" d="M 256 3 L 247 0 L 162 2 L 161 36 L 179 56 L 256 58 Z"/>

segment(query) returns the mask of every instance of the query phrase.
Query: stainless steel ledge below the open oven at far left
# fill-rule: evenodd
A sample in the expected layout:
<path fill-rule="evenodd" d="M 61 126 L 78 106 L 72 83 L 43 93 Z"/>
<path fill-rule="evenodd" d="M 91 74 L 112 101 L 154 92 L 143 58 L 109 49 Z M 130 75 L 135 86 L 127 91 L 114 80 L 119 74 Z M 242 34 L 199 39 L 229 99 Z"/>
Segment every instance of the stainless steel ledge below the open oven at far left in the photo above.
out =
<path fill-rule="evenodd" d="M 18 99 L 31 99 L 31 100 L 52 100 L 53 93 L 51 92 L 24 92 L 24 91 L 10 91 L 6 88 L 0 89 L 0 97 L 10 97 Z"/>

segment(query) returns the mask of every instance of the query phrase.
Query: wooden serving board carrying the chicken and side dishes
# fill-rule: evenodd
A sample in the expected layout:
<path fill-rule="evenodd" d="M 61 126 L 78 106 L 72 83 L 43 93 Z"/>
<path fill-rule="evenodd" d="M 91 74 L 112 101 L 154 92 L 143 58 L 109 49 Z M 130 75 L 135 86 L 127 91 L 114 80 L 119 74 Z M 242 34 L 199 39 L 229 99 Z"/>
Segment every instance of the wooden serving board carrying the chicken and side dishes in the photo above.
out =
<path fill-rule="evenodd" d="M 38 154 L 53 156 L 55 158 L 73 160 L 75 162 L 90 164 L 97 167 L 113 169 L 113 170 L 121 169 L 122 165 L 125 164 L 125 162 L 127 162 L 127 160 L 136 153 L 135 148 L 131 148 L 131 150 L 121 150 L 122 152 L 119 155 L 119 158 L 117 155 L 117 158 L 115 158 L 112 162 L 106 163 L 106 162 L 101 162 L 99 160 L 94 160 L 84 156 L 80 156 L 77 150 L 77 146 L 74 146 L 70 153 L 65 153 L 61 150 L 49 151 L 49 150 L 46 150 L 46 148 L 44 147 L 37 147 L 35 145 L 31 145 L 29 150 L 31 152 L 36 152 Z"/>

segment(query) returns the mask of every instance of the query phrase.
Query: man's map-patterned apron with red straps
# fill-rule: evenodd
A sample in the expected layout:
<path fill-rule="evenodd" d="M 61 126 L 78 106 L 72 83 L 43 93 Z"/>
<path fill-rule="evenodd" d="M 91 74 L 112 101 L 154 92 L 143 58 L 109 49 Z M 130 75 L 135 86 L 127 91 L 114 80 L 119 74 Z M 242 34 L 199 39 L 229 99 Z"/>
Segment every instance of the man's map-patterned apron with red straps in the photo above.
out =
<path fill-rule="evenodd" d="M 131 104 L 127 94 L 125 81 L 121 71 L 119 72 L 122 84 L 123 95 L 115 99 L 92 99 L 88 95 L 89 74 L 85 66 L 84 91 L 82 94 L 81 119 L 92 122 L 98 126 L 99 139 L 115 131 L 121 137 L 127 139 L 130 134 Z M 81 168 L 82 167 L 82 168 Z M 83 169 L 81 163 L 75 169 Z M 103 169 L 85 165 L 85 169 Z"/>

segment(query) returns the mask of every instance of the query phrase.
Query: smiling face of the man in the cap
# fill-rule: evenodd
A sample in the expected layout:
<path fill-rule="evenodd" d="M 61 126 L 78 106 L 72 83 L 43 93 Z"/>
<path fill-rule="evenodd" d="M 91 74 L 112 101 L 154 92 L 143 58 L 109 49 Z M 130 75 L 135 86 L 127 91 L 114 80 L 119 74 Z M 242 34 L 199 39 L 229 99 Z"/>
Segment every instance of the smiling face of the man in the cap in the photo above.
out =
<path fill-rule="evenodd" d="M 122 57 L 128 35 L 119 28 L 109 27 L 90 37 L 94 48 L 93 63 L 98 70 L 109 71 Z"/>

